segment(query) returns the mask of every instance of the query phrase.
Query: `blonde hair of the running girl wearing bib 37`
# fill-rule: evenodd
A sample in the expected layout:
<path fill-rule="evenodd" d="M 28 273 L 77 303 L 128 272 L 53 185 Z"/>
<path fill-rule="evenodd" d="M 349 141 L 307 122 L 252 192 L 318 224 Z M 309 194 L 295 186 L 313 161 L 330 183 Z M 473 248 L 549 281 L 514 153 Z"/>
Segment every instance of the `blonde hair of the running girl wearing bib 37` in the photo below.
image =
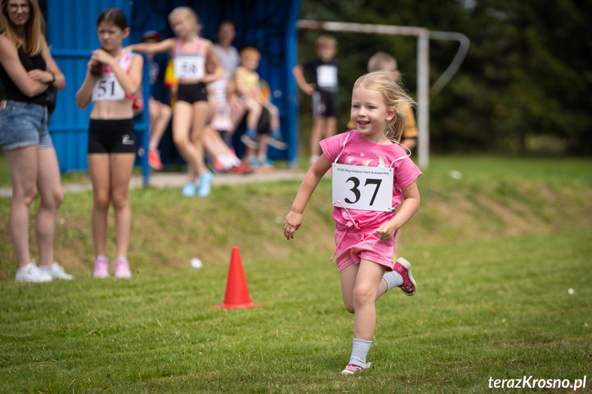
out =
<path fill-rule="evenodd" d="M 407 94 L 403 85 L 398 82 L 393 73 L 377 71 L 359 77 L 353 90 L 365 88 L 376 90 L 381 93 L 387 108 L 394 109 L 393 118 L 388 121 L 384 128 L 384 135 L 390 140 L 399 142 L 407 123 L 407 107 L 414 106 L 415 101 Z"/>

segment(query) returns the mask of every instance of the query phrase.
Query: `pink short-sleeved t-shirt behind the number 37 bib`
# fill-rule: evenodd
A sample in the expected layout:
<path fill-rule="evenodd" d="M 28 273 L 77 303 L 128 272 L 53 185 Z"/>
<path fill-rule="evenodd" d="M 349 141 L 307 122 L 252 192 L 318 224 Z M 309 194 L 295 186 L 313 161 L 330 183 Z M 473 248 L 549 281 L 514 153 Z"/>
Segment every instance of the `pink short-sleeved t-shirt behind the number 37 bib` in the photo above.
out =
<path fill-rule="evenodd" d="M 348 137 L 349 134 L 349 137 Z M 344 141 L 346 140 L 344 147 Z M 339 156 L 338 164 L 364 167 L 392 167 L 394 168 L 394 180 L 392 188 L 392 206 L 401 205 L 403 193 L 401 188 L 409 186 L 421 175 L 421 171 L 415 163 L 407 157 L 407 151 L 399 145 L 377 145 L 366 140 L 357 130 L 349 133 L 338 134 L 320 142 L 324 156 L 330 162 L 335 162 Z M 341 153 L 341 156 L 340 156 Z M 405 157 L 401 160 L 398 158 Z M 396 161 L 395 161 L 396 160 Z M 353 219 L 357 219 L 359 227 L 379 227 L 382 223 L 390 221 L 394 217 L 392 212 L 376 212 L 368 210 L 350 209 Z M 333 219 L 336 223 L 347 225 L 351 222 L 350 216 L 342 207 L 333 208 Z"/>

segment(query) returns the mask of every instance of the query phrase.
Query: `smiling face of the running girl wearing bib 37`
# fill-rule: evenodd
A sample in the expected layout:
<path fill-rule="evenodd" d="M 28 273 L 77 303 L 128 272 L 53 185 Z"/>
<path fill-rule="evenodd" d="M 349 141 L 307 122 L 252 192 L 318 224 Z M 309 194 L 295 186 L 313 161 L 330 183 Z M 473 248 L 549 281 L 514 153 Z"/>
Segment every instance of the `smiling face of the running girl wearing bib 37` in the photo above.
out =
<path fill-rule="evenodd" d="M 390 140 L 384 135 L 384 128 L 393 116 L 394 109 L 387 108 L 378 90 L 362 87 L 353 90 L 351 121 L 366 140 L 376 144 L 390 144 Z"/>

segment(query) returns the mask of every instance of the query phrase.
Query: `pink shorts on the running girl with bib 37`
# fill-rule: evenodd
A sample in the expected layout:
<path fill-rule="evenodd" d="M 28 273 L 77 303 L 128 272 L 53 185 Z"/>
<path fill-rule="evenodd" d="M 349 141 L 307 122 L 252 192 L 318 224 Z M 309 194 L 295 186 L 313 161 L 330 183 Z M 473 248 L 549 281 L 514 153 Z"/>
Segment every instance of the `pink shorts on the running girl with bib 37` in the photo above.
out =
<path fill-rule="evenodd" d="M 370 260 L 392 271 L 394 266 L 394 238 L 381 241 L 376 229 L 357 230 L 355 227 L 335 229 L 335 264 L 341 271 L 350 264 Z"/>

